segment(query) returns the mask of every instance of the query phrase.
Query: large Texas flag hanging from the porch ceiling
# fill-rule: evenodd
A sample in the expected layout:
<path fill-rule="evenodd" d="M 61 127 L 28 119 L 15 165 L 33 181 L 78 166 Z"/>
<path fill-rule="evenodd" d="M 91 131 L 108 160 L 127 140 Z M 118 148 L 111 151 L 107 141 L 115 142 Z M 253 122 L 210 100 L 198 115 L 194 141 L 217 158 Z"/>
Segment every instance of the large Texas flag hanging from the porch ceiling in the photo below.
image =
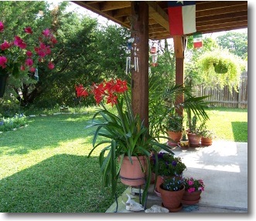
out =
<path fill-rule="evenodd" d="M 186 35 L 196 32 L 195 1 L 169 1 L 168 15 L 171 35 Z"/>

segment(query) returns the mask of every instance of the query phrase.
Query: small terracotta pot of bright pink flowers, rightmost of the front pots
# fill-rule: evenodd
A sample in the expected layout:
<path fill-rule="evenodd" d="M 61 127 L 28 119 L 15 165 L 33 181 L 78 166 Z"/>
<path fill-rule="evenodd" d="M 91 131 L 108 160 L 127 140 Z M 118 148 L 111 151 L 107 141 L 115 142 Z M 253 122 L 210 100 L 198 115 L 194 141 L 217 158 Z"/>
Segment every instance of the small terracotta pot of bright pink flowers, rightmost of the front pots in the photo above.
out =
<path fill-rule="evenodd" d="M 201 199 L 201 193 L 204 191 L 203 179 L 194 179 L 193 177 L 186 177 L 183 179 L 185 186 L 185 193 L 183 195 L 184 204 L 196 204 Z"/>

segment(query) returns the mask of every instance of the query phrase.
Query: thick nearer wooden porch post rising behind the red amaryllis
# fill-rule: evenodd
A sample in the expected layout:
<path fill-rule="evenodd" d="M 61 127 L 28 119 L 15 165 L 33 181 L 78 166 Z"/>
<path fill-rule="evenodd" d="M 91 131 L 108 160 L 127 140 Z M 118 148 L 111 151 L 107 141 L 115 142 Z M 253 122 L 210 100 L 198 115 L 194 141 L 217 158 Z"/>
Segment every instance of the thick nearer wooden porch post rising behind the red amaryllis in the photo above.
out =
<path fill-rule="evenodd" d="M 133 47 L 136 47 L 131 50 L 131 65 L 135 65 L 131 71 L 131 106 L 148 126 L 148 4 L 131 2 L 131 23 Z"/>

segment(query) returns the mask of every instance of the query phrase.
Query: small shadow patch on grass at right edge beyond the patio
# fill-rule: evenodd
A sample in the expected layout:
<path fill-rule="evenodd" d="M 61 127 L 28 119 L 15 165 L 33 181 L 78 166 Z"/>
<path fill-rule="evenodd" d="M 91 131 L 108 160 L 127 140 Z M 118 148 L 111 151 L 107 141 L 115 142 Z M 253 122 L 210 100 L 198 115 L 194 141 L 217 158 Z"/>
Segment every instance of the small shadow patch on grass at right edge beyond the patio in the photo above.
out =
<path fill-rule="evenodd" d="M 232 130 L 234 134 L 234 140 L 237 142 L 244 142 L 247 140 L 248 129 L 247 129 L 247 122 L 231 122 Z"/>

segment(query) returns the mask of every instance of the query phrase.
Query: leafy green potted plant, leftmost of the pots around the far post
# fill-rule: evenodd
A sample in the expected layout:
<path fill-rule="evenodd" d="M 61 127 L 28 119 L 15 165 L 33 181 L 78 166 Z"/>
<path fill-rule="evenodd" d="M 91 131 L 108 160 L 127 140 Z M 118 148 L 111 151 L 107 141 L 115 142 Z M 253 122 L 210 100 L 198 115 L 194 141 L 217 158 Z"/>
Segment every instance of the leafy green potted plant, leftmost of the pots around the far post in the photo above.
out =
<path fill-rule="evenodd" d="M 168 146 L 177 146 L 182 136 L 183 116 L 178 114 L 169 114 L 164 121 L 166 133 L 169 136 Z"/>

